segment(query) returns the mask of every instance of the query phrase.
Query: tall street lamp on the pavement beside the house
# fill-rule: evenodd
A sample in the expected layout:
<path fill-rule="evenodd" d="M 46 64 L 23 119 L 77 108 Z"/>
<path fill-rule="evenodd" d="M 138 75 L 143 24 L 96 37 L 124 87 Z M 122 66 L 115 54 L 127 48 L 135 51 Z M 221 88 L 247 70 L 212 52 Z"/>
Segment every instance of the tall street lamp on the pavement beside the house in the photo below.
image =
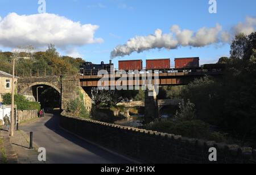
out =
<path fill-rule="evenodd" d="M 14 81 L 15 81 L 15 61 L 18 59 L 29 60 L 30 57 L 16 57 L 13 59 L 13 82 L 11 86 L 11 136 L 14 135 Z"/>

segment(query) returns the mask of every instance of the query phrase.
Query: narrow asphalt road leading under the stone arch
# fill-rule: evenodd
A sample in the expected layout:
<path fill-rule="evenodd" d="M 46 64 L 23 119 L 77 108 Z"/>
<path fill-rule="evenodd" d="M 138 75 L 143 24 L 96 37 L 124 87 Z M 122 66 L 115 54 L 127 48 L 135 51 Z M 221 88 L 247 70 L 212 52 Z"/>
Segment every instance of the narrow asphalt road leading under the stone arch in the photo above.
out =
<path fill-rule="evenodd" d="M 126 164 L 131 163 L 59 127 L 59 116 L 46 114 L 36 122 L 20 126 L 27 134 L 34 132 L 34 143 L 47 151 L 47 163 L 53 164 Z"/>

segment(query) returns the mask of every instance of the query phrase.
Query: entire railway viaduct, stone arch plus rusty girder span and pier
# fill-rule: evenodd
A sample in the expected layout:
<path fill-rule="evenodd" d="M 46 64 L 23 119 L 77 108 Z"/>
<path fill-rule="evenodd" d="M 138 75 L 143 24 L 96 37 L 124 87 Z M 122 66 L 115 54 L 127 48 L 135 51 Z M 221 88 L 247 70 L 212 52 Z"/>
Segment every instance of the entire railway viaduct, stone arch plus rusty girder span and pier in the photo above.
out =
<path fill-rule="evenodd" d="M 205 75 L 221 77 L 223 72 L 167 72 L 167 73 L 154 73 L 152 76 L 152 82 L 159 86 L 176 86 L 176 85 L 186 85 L 189 82 L 195 80 L 195 78 L 204 77 Z M 129 80 L 125 83 L 122 82 L 122 85 L 129 86 L 129 84 L 140 86 L 143 84 L 142 80 L 143 75 L 139 77 L 138 80 Z M 34 86 L 50 86 L 53 87 L 56 91 L 60 93 L 60 106 L 61 109 L 65 110 L 67 107 L 67 102 L 71 99 L 75 99 L 79 97 L 82 93 L 84 97 L 84 105 L 88 111 L 92 109 L 92 99 L 90 98 L 90 89 L 92 87 L 97 87 L 99 84 L 102 86 L 110 86 L 117 84 L 117 81 L 120 77 L 115 77 L 115 79 L 111 79 L 111 77 L 107 77 L 106 80 L 102 80 L 104 75 L 82 75 L 82 76 L 74 76 L 74 75 L 60 75 L 60 76 L 35 76 L 35 77 L 21 77 L 18 79 L 18 93 L 26 95 L 28 98 L 35 97 L 33 95 L 32 87 Z M 148 81 L 148 80 L 147 80 Z M 105 82 L 109 82 L 105 84 Z M 138 84 L 136 84 L 138 83 Z M 148 95 L 148 94 L 151 95 Z M 35 98 L 34 98 L 35 99 Z M 159 111 L 159 101 L 157 100 L 157 94 L 155 89 L 145 90 L 145 116 L 150 122 L 152 119 L 158 117 Z M 164 106 L 164 102 L 160 101 L 162 106 Z M 166 102 L 167 103 L 167 102 Z"/>

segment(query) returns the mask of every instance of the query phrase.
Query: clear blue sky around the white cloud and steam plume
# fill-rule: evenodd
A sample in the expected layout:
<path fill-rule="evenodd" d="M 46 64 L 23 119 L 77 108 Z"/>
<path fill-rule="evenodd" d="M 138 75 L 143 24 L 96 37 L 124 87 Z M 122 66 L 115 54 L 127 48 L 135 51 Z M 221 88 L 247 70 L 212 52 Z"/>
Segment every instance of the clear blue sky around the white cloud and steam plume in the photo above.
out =
<path fill-rule="evenodd" d="M 245 21 L 246 16 L 256 17 L 255 0 L 217 0 L 217 14 L 208 12 L 208 0 L 46 0 L 46 11 L 49 14 L 65 16 L 81 24 L 99 26 L 94 37 L 102 38 L 103 43 L 73 46 L 86 61 L 100 63 L 108 62 L 110 52 L 117 45 L 122 45 L 134 36 L 154 34 L 156 29 L 164 33 L 170 32 L 174 24 L 181 29 L 197 31 L 201 27 L 214 27 L 219 23 L 223 30 L 229 30 L 239 22 Z M 0 0 L 0 16 L 5 18 L 10 12 L 18 15 L 38 14 L 36 0 Z M 40 21 L 38 21 L 40 23 Z M 54 44 L 54 43 L 53 43 Z M 0 43 L 1 45 L 1 43 Z M 199 56 L 201 64 L 215 62 L 221 56 L 229 55 L 229 44 L 211 44 L 205 47 L 178 47 L 177 49 L 151 49 L 130 56 L 117 57 L 118 60 L 157 59 L 175 57 Z M 2 51 L 11 48 L 1 47 Z M 66 52 L 59 49 L 62 55 Z"/>

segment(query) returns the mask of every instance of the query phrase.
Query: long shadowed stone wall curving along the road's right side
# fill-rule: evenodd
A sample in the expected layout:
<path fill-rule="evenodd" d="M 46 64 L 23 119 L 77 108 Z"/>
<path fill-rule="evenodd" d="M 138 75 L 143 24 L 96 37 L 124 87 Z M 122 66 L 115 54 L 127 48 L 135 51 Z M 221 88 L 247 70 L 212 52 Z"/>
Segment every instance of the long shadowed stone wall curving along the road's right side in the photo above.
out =
<path fill-rule="evenodd" d="M 65 115 L 60 126 L 85 139 L 115 152 L 142 160 L 144 163 L 212 163 L 209 148 L 217 149 L 217 162 L 256 163 L 256 150 L 237 145 L 216 144 L 213 141 L 183 138 L 138 128 L 94 120 L 77 119 Z"/>

